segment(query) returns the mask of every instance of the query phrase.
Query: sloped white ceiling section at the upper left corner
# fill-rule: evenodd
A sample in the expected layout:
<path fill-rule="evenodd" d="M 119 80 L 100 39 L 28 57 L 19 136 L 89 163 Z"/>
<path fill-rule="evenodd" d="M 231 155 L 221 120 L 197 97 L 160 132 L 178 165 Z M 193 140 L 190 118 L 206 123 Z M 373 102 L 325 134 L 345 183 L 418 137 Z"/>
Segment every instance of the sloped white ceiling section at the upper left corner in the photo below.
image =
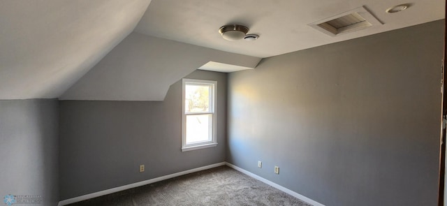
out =
<path fill-rule="evenodd" d="M 59 97 L 133 31 L 149 3 L 0 1 L 0 99 Z"/>

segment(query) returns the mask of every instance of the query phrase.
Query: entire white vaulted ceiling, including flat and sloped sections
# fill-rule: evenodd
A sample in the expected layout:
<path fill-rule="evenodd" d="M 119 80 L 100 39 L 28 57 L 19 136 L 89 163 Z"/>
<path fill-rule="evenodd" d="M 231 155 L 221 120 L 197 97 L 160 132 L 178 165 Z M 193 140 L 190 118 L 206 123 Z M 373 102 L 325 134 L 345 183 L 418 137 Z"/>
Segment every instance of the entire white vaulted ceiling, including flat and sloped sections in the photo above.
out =
<path fill-rule="evenodd" d="M 390 6 L 411 3 L 400 13 Z M 309 23 L 365 6 L 383 24 L 331 37 Z M 444 18 L 442 0 L 0 1 L 0 99 L 161 101 L 197 68 L 254 68 L 264 57 Z M 257 41 L 225 41 L 239 23 Z M 204 66 L 205 65 L 205 66 Z"/>

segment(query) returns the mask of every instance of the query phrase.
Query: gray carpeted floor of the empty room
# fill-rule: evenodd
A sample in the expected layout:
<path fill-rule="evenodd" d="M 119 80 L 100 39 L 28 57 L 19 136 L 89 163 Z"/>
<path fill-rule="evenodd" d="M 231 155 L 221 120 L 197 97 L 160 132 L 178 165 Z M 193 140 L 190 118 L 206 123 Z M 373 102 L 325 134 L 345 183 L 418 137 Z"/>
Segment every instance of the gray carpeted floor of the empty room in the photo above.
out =
<path fill-rule="evenodd" d="M 86 205 L 299 205 L 287 193 L 227 166 L 194 172 L 71 206 Z"/>

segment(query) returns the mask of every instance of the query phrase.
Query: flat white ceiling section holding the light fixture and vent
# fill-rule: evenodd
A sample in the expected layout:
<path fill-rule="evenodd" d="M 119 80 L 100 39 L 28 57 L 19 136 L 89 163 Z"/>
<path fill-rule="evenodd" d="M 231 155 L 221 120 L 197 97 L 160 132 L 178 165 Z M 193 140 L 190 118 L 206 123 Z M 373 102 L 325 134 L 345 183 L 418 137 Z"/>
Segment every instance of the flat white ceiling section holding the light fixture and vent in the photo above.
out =
<path fill-rule="evenodd" d="M 413 5 L 401 13 L 386 9 Z M 136 32 L 254 57 L 271 57 L 444 19 L 444 0 L 153 0 Z M 331 37 L 307 24 L 365 6 L 384 24 Z M 257 41 L 225 41 L 225 24 L 243 24 Z"/>

